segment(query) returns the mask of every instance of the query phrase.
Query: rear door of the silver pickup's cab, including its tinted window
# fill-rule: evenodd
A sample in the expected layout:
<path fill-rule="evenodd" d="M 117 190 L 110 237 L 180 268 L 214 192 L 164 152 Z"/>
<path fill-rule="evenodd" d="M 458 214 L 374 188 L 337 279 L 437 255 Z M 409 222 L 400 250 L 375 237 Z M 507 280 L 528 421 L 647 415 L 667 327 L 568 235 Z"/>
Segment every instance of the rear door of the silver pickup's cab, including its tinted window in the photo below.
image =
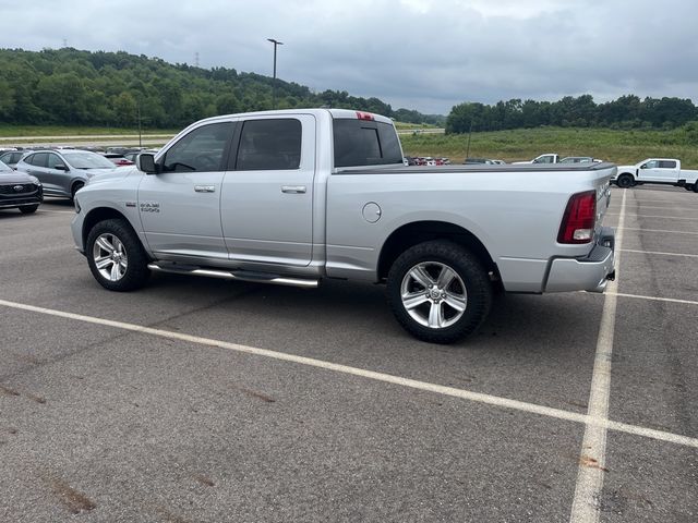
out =
<path fill-rule="evenodd" d="M 256 117 L 240 123 L 222 184 L 230 259 L 306 266 L 312 258 L 315 119 Z"/>

